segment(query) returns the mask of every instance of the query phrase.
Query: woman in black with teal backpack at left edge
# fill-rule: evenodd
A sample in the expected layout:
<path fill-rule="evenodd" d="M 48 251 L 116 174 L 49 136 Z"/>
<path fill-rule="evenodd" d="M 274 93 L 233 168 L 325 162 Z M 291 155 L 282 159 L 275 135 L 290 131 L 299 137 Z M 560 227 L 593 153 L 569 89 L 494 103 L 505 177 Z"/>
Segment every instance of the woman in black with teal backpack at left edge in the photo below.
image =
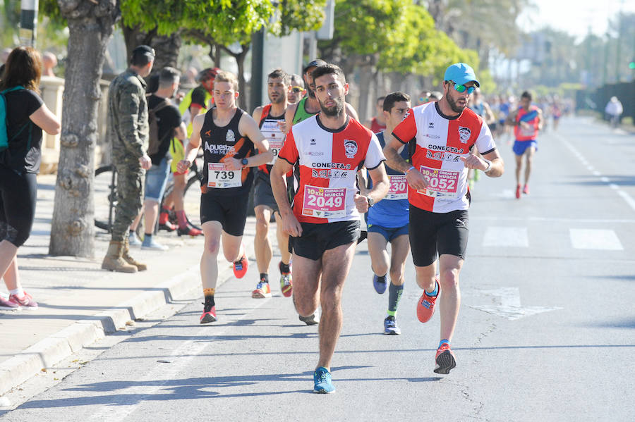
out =
<path fill-rule="evenodd" d="M 40 98 L 42 57 L 31 47 L 9 54 L 0 75 L 0 275 L 9 291 L 0 309 L 37 309 L 18 278 L 18 247 L 35 218 L 42 130 L 59 133 L 59 119 Z"/>

